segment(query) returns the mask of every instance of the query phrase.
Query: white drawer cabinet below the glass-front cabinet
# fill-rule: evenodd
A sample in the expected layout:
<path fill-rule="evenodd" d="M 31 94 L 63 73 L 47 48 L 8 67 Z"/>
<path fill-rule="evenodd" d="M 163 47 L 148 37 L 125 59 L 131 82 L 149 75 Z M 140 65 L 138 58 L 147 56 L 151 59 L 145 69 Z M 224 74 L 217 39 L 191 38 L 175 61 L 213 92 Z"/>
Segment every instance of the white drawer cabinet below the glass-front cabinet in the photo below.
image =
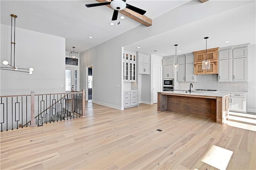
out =
<path fill-rule="evenodd" d="M 138 90 L 124 91 L 124 108 L 138 106 Z"/>

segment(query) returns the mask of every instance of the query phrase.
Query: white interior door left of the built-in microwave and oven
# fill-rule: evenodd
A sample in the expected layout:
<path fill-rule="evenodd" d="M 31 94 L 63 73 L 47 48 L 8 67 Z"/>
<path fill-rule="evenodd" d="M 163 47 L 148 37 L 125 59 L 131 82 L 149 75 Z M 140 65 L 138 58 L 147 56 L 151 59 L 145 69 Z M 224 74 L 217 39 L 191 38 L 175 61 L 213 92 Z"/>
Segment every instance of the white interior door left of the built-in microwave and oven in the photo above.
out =
<path fill-rule="evenodd" d="M 152 101 L 153 103 L 157 103 L 157 92 L 161 91 L 161 65 L 156 65 L 153 64 L 152 66 L 152 86 L 153 86 L 153 91 L 152 91 Z"/>

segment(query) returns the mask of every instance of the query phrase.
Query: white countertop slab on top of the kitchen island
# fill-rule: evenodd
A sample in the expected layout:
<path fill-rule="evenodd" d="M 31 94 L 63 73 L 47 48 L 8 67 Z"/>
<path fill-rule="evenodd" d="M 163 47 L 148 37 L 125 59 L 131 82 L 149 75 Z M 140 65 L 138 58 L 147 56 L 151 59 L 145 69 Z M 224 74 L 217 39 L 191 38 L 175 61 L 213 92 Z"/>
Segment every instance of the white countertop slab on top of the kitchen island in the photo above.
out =
<path fill-rule="evenodd" d="M 209 96 L 209 97 L 224 97 L 224 96 L 228 96 L 230 95 L 230 93 L 212 93 L 212 92 L 197 92 L 197 91 L 193 91 L 193 92 L 185 92 L 185 91 L 180 91 L 180 90 L 174 90 L 174 91 L 158 91 L 158 93 L 166 93 L 167 95 L 191 95 L 192 96 Z"/>

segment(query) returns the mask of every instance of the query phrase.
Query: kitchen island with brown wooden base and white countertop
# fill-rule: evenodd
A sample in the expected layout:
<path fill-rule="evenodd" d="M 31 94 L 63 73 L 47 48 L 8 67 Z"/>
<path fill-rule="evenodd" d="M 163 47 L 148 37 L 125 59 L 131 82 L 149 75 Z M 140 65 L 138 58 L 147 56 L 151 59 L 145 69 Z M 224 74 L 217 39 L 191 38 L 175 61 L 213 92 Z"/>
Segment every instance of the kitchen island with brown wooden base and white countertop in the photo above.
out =
<path fill-rule="evenodd" d="M 230 93 L 160 91 L 158 111 L 188 113 L 216 120 L 228 119 Z"/>

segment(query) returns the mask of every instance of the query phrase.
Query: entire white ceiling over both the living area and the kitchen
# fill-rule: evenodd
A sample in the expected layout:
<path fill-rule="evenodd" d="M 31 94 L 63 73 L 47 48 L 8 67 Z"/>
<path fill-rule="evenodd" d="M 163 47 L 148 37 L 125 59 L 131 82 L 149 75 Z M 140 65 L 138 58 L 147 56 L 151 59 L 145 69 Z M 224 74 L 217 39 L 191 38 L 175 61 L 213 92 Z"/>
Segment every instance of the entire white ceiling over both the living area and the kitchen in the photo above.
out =
<path fill-rule="evenodd" d="M 199 1 L 199 0 L 196 0 Z M 213 3 L 210 0 L 205 3 Z M 189 0 L 127 0 L 126 3 L 146 10 L 146 16 L 158 16 L 178 8 Z M 223 1 L 222 1 L 223 2 Z M 231 3 L 237 2 L 236 0 Z M 248 1 L 246 3 L 251 3 Z M 18 16 L 16 27 L 42 32 L 66 38 L 66 51 L 82 52 L 102 42 L 110 40 L 140 23 L 126 17 L 120 25 L 112 22 L 113 10 L 107 6 L 86 8 L 85 4 L 98 3 L 95 0 L 78 1 L 12 1 L 1 0 L 1 24 L 10 25 L 10 14 Z M 244 3 L 244 1 L 243 1 Z M 244 3 L 244 4 L 246 4 Z M 200 5 L 200 3 L 198 3 Z M 225 3 L 228 6 L 228 3 Z M 223 8 L 223 6 L 222 6 Z M 185 11 L 188 15 L 191 11 Z M 158 34 L 140 42 L 127 45 L 127 49 L 143 51 L 150 54 L 166 56 L 175 52 L 174 44 L 178 44 L 178 54 L 189 53 L 205 48 L 204 37 L 208 36 L 208 48 L 238 45 L 241 43 L 255 44 L 255 1 L 252 5 L 244 5 L 228 10 L 203 20 L 181 26 Z M 178 18 L 178 16 L 175 16 Z M 168 21 L 167 21 L 168 22 Z M 154 20 L 153 20 L 154 25 Z M 92 36 L 93 38 L 88 38 Z M 224 43 L 230 41 L 230 43 Z M 140 46 L 138 50 L 136 47 Z M 158 51 L 154 51 L 154 50 Z M 162 54 L 165 55 L 162 55 Z"/>

